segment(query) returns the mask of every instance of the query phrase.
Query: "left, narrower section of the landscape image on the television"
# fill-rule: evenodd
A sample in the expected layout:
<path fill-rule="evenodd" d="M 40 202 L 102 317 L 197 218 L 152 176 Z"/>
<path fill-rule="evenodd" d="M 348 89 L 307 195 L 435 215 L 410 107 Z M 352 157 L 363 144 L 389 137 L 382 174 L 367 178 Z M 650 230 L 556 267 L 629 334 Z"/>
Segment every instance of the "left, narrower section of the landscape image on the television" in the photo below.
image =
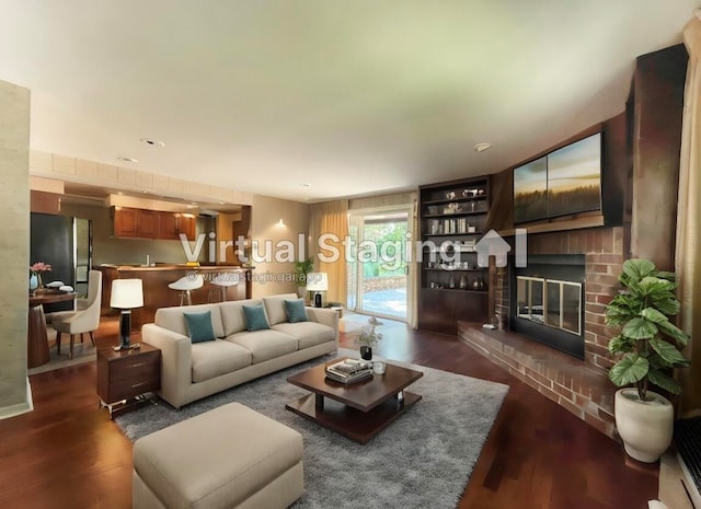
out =
<path fill-rule="evenodd" d="M 514 170 L 514 222 L 548 217 L 548 164 L 537 159 Z"/>

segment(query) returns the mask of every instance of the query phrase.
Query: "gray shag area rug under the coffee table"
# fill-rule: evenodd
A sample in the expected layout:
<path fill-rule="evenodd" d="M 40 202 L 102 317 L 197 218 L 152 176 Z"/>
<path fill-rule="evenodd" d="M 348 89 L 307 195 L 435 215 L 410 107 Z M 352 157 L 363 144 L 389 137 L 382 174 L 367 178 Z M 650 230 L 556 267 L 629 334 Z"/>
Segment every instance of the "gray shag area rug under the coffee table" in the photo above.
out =
<path fill-rule="evenodd" d="M 358 357 L 340 349 L 338 356 Z M 216 408 L 242 403 L 299 431 L 304 439 L 304 495 L 294 509 L 452 509 L 472 473 L 508 386 L 423 366 L 407 390 L 423 400 L 360 446 L 285 409 L 308 394 L 286 382 L 326 356 L 230 389 L 185 406 L 164 402 L 118 416 L 127 437 L 145 435 Z M 235 430 L 232 430 L 235 432 Z"/>

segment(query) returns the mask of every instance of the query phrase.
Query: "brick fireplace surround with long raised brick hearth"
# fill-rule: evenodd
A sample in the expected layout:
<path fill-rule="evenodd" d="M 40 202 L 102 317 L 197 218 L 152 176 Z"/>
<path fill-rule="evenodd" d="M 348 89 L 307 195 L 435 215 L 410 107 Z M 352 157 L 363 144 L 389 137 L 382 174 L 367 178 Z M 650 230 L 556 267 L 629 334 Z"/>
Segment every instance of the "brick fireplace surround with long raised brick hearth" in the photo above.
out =
<path fill-rule="evenodd" d="M 620 289 L 618 275 L 627 252 L 623 227 L 528 235 L 529 256 L 584 255 L 583 360 L 525 335 L 484 329 L 482 324 L 461 323 L 460 338 L 581 419 L 614 437 L 617 387 L 606 373 L 612 366 L 608 342 L 614 334 L 604 322 L 606 305 Z M 491 270 L 490 309 L 502 320 L 510 313 L 513 270 L 513 266 Z"/>

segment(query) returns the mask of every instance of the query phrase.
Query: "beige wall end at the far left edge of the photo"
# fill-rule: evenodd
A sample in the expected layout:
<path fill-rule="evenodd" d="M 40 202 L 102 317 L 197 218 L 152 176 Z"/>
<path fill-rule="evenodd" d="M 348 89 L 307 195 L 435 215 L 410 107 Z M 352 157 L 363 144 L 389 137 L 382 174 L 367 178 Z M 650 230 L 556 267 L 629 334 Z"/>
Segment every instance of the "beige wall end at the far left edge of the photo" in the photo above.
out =
<path fill-rule="evenodd" d="M 32 409 L 26 375 L 30 91 L 0 81 L 0 418 Z"/>

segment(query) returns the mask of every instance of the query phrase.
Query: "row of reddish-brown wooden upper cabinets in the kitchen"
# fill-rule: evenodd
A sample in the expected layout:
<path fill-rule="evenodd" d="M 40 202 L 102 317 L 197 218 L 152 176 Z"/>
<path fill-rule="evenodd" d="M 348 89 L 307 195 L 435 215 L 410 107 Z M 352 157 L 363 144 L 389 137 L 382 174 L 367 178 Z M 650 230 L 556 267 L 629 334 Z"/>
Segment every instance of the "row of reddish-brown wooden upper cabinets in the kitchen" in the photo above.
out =
<path fill-rule="evenodd" d="M 115 207 L 114 236 L 126 239 L 195 240 L 197 218 L 192 215 Z"/>

